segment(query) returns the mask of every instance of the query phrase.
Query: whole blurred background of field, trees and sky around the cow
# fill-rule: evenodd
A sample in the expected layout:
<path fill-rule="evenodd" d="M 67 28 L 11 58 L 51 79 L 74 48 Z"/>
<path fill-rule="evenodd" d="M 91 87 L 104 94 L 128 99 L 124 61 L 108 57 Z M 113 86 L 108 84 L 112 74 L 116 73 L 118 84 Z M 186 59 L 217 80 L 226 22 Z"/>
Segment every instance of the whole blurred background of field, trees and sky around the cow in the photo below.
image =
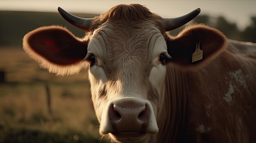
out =
<path fill-rule="evenodd" d="M 229 39 L 256 42 L 256 1 L 175 0 L 1 0 L 0 1 L 0 143 L 105 143 L 91 102 L 87 69 L 56 77 L 22 50 L 23 36 L 37 27 L 62 25 L 77 37 L 57 7 L 93 18 L 117 4 L 144 4 L 163 18 L 200 7 L 191 23 L 204 23 Z M 186 24 L 185 26 L 187 26 Z M 170 33 L 177 35 L 184 26 Z"/>

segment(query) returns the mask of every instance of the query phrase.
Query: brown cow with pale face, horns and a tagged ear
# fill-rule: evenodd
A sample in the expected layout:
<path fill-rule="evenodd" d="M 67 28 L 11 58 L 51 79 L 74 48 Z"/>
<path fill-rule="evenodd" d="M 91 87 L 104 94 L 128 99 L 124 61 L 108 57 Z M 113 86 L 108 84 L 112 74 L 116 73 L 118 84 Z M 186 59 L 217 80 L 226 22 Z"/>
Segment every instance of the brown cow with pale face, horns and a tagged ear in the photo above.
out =
<path fill-rule="evenodd" d="M 99 133 L 117 143 L 255 143 L 256 44 L 228 40 L 195 18 L 120 4 L 95 18 L 61 8 L 62 26 L 27 33 L 23 49 L 56 75 L 89 68 Z"/>

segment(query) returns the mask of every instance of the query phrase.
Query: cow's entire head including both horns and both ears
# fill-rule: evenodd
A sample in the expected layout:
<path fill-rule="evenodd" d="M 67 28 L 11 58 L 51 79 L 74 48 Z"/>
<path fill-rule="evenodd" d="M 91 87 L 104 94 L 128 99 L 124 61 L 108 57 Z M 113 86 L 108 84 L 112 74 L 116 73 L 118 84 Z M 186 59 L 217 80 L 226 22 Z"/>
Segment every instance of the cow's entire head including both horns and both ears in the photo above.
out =
<path fill-rule="evenodd" d="M 165 33 L 192 20 L 200 9 L 174 19 L 162 19 L 139 4 L 118 5 L 94 19 L 58 10 L 88 31 L 86 36 L 79 39 L 61 26 L 45 26 L 25 35 L 23 48 L 56 75 L 72 75 L 90 65 L 99 132 L 117 142 L 148 142 L 158 132 L 167 62 L 194 70 L 225 47 L 222 33 L 204 25 L 188 27 L 177 37 Z M 204 57 L 191 63 L 197 42 Z"/>

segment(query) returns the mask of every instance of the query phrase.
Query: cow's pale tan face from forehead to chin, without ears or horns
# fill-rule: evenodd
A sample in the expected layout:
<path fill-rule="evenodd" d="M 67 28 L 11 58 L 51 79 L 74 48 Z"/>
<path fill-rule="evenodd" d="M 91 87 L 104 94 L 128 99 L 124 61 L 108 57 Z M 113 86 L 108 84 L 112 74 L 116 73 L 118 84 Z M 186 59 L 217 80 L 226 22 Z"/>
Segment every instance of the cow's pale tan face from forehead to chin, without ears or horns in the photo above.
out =
<path fill-rule="evenodd" d="M 130 142 L 158 132 L 168 56 L 149 22 L 106 22 L 94 31 L 85 58 L 100 134 Z"/>

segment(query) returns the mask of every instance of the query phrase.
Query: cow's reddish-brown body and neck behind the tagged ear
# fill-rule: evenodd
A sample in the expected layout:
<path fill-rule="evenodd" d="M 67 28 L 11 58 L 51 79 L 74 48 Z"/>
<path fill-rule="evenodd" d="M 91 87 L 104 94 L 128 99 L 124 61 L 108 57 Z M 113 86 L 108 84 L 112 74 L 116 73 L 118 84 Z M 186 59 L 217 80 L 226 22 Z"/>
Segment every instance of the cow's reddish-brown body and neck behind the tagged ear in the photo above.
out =
<path fill-rule="evenodd" d="M 197 72 L 184 73 L 170 64 L 166 68 L 167 106 L 162 111 L 167 117 L 162 117 L 166 120 L 161 139 L 256 141 L 255 44 L 229 40 L 228 50 Z"/>

